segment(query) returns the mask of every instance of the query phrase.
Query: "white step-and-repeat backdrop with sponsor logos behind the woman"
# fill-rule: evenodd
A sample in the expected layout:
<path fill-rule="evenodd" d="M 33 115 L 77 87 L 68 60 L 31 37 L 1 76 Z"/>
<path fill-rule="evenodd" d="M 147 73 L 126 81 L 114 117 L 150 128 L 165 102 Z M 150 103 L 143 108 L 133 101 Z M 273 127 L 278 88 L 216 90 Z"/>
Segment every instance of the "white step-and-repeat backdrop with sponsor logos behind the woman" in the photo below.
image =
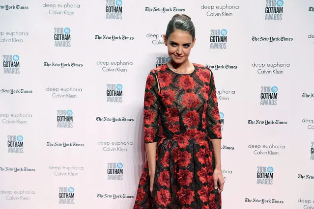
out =
<path fill-rule="evenodd" d="M 0 0 L 1 209 L 133 208 L 177 13 L 215 77 L 223 209 L 314 209 L 313 0 Z"/>

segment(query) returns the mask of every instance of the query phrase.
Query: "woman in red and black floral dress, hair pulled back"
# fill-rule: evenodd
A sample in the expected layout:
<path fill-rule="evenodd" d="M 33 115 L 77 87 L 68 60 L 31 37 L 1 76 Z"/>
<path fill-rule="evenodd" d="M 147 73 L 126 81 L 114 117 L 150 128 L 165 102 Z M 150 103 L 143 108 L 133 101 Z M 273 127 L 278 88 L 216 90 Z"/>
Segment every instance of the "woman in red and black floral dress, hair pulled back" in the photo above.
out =
<path fill-rule="evenodd" d="M 174 15 L 164 41 L 170 60 L 146 79 L 147 161 L 134 208 L 220 209 L 225 181 L 214 77 L 188 58 L 196 41 L 191 18 Z"/>

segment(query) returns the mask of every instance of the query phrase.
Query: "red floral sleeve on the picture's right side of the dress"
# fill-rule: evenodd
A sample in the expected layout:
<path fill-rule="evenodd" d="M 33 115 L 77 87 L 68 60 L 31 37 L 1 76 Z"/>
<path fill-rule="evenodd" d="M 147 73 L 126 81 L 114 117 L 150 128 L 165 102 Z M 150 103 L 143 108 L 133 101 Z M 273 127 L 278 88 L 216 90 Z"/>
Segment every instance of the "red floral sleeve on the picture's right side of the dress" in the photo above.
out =
<path fill-rule="evenodd" d="M 207 133 L 211 139 L 221 139 L 221 122 L 218 109 L 218 100 L 216 95 L 216 86 L 214 76 L 210 71 L 209 94 L 207 105 Z"/>

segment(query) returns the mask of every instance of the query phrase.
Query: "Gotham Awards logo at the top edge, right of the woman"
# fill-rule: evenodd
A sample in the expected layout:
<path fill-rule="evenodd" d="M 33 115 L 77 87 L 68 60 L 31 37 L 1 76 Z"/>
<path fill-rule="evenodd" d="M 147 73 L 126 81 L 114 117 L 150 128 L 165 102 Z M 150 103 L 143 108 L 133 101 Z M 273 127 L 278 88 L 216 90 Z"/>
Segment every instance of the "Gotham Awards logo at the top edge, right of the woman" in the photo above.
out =
<path fill-rule="evenodd" d="M 266 0 L 265 20 L 283 20 L 283 0 Z"/>

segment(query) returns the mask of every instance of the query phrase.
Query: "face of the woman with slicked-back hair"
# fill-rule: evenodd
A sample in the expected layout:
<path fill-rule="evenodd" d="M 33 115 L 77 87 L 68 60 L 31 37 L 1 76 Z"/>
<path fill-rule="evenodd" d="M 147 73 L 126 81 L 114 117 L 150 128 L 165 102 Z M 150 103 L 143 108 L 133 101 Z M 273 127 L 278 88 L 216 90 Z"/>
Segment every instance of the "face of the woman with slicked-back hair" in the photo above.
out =
<path fill-rule="evenodd" d="M 192 47 L 196 38 L 192 40 L 192 35 L 183 30 L 174 30 L 168 39 L 164 35 L 164 42 L 168 48 L 168 54 L 172 61 L 182 64 L 188 60 Z"/>

